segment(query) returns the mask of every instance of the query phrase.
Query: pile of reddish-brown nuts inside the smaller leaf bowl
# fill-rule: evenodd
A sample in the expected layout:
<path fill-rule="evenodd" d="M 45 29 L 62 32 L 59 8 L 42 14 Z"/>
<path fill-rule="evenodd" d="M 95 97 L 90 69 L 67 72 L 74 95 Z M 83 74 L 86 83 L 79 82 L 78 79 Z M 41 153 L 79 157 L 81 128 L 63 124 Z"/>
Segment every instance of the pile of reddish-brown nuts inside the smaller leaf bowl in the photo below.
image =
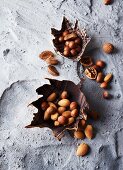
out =
<path fill-rule="evenodd" d="M 66 57 L 74 57 L 81 51 L 82 40 L 71 30 L 66 30 L 58 38 L 59 43 L 63 44 L 63 55 Z"/>

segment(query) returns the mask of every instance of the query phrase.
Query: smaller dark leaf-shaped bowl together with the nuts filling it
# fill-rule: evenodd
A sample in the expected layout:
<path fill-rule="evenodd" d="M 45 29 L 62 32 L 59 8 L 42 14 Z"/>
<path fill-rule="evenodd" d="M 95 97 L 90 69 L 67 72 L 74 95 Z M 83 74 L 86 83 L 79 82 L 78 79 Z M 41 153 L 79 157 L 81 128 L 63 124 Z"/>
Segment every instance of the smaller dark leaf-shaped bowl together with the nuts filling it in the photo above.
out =
<path fill-rule="evenodd" d="M 56 52 L 76 61 L 82 58 L 85 48 L 90 42 L 86 30 L 79 29 L 78 21 L 76 21 L 75 26 L 72 27 L 69 20 L 65 17 L 63 18 L 61 30 L 51 28 L 51 33 L 55 37 L 53 39 L 53 45 Z"/>

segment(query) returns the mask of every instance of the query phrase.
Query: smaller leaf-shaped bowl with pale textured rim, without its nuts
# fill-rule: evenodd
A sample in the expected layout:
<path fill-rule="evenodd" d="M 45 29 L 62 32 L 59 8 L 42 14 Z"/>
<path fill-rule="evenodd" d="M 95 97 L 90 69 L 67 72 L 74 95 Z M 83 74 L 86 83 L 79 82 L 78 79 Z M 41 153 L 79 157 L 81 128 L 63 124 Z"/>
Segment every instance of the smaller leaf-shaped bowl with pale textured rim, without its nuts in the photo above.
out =
<path fill-rule="evenodd" d="M 79 61 L 82 58 L 83 53 L 86 49 L 86 46 L 90 42 L 91 38 L 87 36 L 85 29 L 79 29 L 78 20 L 76 20 L 74 27 L 72 27 L 71 25 L 72 24 L 69 22 L 69 20 L 63 17 L 62 26 L 60 30 L 51 28 L 51 34 L 55 37 L 53 39 L 53 45 L 55 47 L 55 51 L 59 52 L 63 57 L 67 57 L 74 61 Z M 59 41 L 59 37 L 63 35 L 64 31 L 74 32 L 81 39 L 80 51 L 74 56 L 71 54 L 69 56 L 64 55 L 65 41 L 62 41 L 62 42 Z"/>

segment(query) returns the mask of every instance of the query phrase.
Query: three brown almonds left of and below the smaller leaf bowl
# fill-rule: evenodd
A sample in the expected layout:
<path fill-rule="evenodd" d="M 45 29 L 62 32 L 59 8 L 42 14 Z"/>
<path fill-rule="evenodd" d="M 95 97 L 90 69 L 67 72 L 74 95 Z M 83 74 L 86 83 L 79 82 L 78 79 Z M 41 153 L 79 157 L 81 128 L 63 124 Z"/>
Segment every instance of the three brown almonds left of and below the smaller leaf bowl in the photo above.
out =
<path fill-rule="evenodd" d="M 55 58 L 54 54 L 51 51 L 43 51 L 39 57 L 46 61 L 46 63 L 48 64 L 48 72 L 52 75 L 52 76 L 59 76 L 59 72 L 56 69 L 56 67 L 54 65 L 58 65 L 59 61 Z"/>

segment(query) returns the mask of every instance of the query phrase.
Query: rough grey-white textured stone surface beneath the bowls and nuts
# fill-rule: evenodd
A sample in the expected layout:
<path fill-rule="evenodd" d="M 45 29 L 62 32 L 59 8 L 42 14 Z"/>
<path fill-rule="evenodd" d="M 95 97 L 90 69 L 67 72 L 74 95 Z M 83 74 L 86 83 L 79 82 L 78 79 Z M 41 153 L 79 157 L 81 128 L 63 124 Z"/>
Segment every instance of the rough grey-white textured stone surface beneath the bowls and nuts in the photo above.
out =
<path fill-rule="evenodd" d="M 80 141 L 69 135 L 56 141 L 49 129 L 25 129 L 37 99 L 35 89 L 46 83 L 47 65 L 38 58 L 42 50 L 53 50 L 50 28 L 60 28 L 65 15 L 78 19 L 92 41 L 88 50 L 105 60 L 105 72 L 113 72 L 110 93 L 103 100 L 101 89 L 86 80 L 82 89 L 101 118 L 92 122 L 96 136 L 85 139 L 91 152 L 75 156 Z M 123 1 L 105 6 L 94 0 L 0 0 L 0 169 L 1 170 L 122 170 L 123 169 Z M 101 51 L 103 42 L 112 42 L 115 53 Z M 79 82 L 80 65 L 61 58 L 58 79 Z"/>

